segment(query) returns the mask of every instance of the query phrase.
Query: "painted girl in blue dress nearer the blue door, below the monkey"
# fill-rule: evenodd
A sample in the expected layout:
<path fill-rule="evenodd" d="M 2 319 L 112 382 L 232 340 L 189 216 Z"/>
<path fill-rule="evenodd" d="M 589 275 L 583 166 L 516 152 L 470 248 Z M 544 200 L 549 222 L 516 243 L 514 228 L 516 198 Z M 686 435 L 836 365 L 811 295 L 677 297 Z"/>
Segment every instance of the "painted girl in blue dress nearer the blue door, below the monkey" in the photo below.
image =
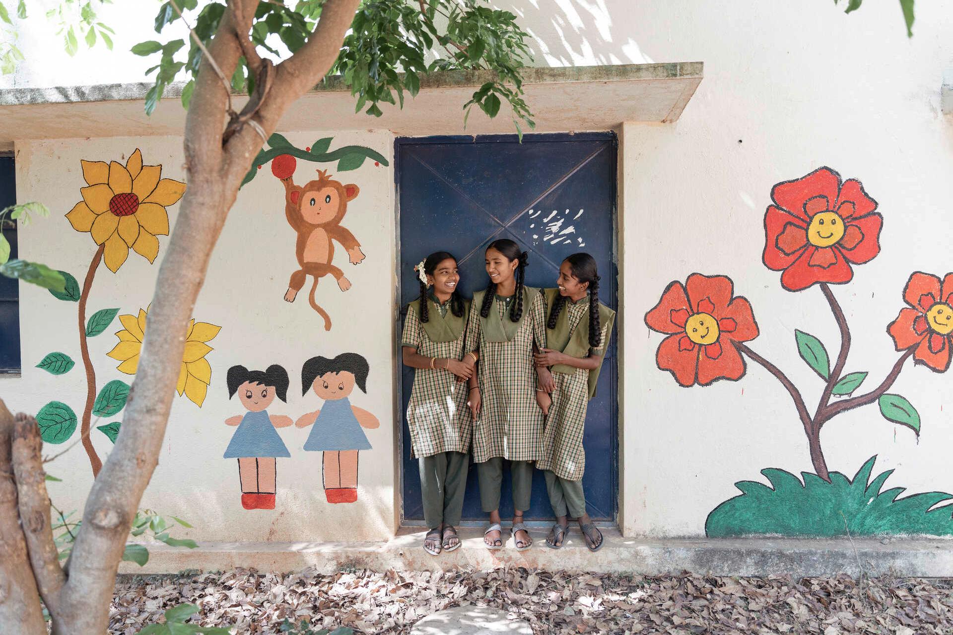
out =
<path fill-rule="evenodd" d="M 311 428 L 304 449 L 324 453 L 324 494 L 328 503 L 357 500 L 357 453 L 371 449 L 362 427 L 380 426 L 364 408 L 351 405 L 355 384 L 367 392 L 367 360 L 357 353 L 342 353 L 335 359 L 312 357 L 301 368 L 302 394 L 314 388 L 324 407 L 302 415 L 295 426 Z"/>

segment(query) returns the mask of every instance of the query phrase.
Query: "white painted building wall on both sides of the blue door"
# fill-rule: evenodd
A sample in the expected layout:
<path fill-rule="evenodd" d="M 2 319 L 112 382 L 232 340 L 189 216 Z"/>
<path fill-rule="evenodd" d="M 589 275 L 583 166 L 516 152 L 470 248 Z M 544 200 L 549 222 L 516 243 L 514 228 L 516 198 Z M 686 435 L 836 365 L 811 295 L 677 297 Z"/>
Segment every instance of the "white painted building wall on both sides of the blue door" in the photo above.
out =
<path fill-rule="evenodd" d="M 807 330 L 835 350 L 837 329 L 820 291 L 784 291 L 780 273 L 761 265 L 762 218 L 775 183 L 827 165 L 844 178 L 861 179 L 884 217 L 881 254 L 855 268 L 849 286 L 835 289 L 854 334 L 847 369 L 869 370 L 868 382 L 882 377 L 897 356 L 884 330 L 902 307 L 908 275 L 915 269 L 940 275 L 953 269 L 949 247 L 953 225 L 948 213 L 953 199 L 949 177 L 953 127 L 940 109 L 943 70 L 953 57 L 948 37 L 953 32 L 953 10 L 940 3 L 918 3 L 916 34 L 908 40 L 896 3 L 865 4 L 851 15 L 823 0 L 787 4 L 558 0 L 555 5 L 534 0 L 505 3 L 517 10 L 538 38 L 537 65 L 705 63 L 705 79 L 679 122 L 626 125 L 621 129 L 620 149 L 620 211 L 624 215 L 620 524 L 626 535 L 698 536 L 707 513 L 737 493 L 736 481 L 760 479 L 759 470 L 769 466 L 795 473 L 809 470 L 804 434 L 786 393 L 760 367 L 749 365 L 739 383 L 678 387 L 668 373 L 656 368 L 661 336 L 649 333 L 642 316 L 672 280 L 684 281 L 693 271 L 729 275 L 736 293 L 751 301 L 758 319 L 761 334 L 752 347 L 804 387 L 813 407 L 820 382 L 798 359 L 793 331 Z M 145 37 L 131 37 L 130 42 Z M 105 74 L 82 74 L 58 58 L 55 63 L 52 60 L 43 58 L 35 71 L 25 70 L 17 82 L 44 86 L 138 79 L 132 62 L 120 56 L 114 58 L 109 73 L 95 66 L 96 73 Z M 293 136 L 310 142 L 318 135 Z M 373 145 L 385 154 L 391 151 L 387 133 L 347 139 Z M 345 136 L 339 140 L 343 143 Z M 103 140 L 24 147 L 18 164 L 21 198 L 43 198 L 51 208 L 65 212 L 78 200 L 80 157 L 108 158 L 132 151 L 135 145 L 135 140 Z M 152 139 L 139 145 L 172 173 L 181 174 L 180 140 Z M 355 172 L 355 179 L 362 189 L 355 221 L 364 219 L 363 225 L 355 223 L 355 234 L 369 248 L 365 249 L 367 262 L 355 268 L 351 293 L 367 289 L 368 297 L 374 299 L 372 306 L 377 307 L 378 298 L 392 296 L 394 284 L 392 174 L 365 166 Z M 263 352 L 273 349 L 294 376 L 294 368 L 311 354 L 285 333 L 313 325 L 314 315 L 300 303 L 287 307 L 268 295 L 283 288 L 292 266 L 291 233 L 280 219 L 279 189 L 267 174 L 247 189 L 216 249 L 209 282 L 196 308 L 198 319 L 218 321 L 225 327 L 210 355 L 219 380 L 227 367 L 255 355 L 262 355 L 261 361 L 249 363 L 267 364 L 270 359 Z M 275 219 L 271 226 L 260 223 L 266 212 Z M 251 238 L 271 247 L 255 250 Z M 89 237 L 72 231 L 62 219 L 28 228 L 22 244 L 27 256 L 61 250 L 65 258 L 77 259 L 72 268 L 81 267 L 79 261 L 88 258 L 78 254 L 91 253 Z M 275 257 L 282 264 L 266 264 Z M 112 274 L 100 272 L 92 307 L 123 297 L 121 306 L 127 312 L 147 301 L 154 269 L 141 258 L 136 260 L 121 270 L 115 286 L 106 282 Z M 249 303 L 241 309 L 241 321 L 236 320 L 233 303 L 242 291 L 236 288 L 235 268 L 242 279 L 257 281 L 265 289 L 261 308 L 250 309 L 258 305 Z M 123 282 L 132 279 L 140 284 Z M 13 407 L 29 410 L 70 382 L 79 393 L 81 382 L 75 370 L 67 376 L 69 380 L 47 381 L 39 371 L 29 369 L 34 357 L 66 347 L 74 338 L 71 330 L 58 330 L 60 324 L 71 325 L 68 308 L 52 301 L 45 291 L 27 288 L 23 297 L 23 352 L 28 369 L 22 381 L 0 380 L 0 389 L 15 395 L 10 400 Z M 343 310 L 343 300 L 334 308 Z M 273 310 L 280 311 L 280 320 L 271 319 Z M 54 317 L 46 317 L 50 311 Z M 355 324 L 353 330 L 342 324 L 347 337 L 341 339 L 355 342 L 355 348 L 349 349 L 373 356 L 372 383 L 375 378 L 381 382 L 366 402 L 383 422 L 380 430 L 371 433 L 375 460 L 380 463 L 361 464 L 378 470 L 367 479 L 363 477 L 371 472 L 362 472 L 362 484 L 370 489 L 361 492 L 365 500 L 377 503 L 355 506 L 355 516 L 335 516 L 335 521 L 364 519 L 364 535 L 370 538 L 386 535 L 394 526 L 394 451 L 389 446 L 394 427 L 388 425 L 393 385 L 384 381 L 387 375 L 380 374 L 392 367 L 391 329 L 390 316 L 383 310 L 379 315 L 377 311 L 359 315 L 379 325 L 372 329 L 373 341 L 363 335 L 355 339 L 370 323 Z M 283 327 L 274 327 L 275 323 Z M 315 347 L 326 341 L 321 339 L 323 334 L 318 335 Z M 105 342 L 95 346 L 103 347 L 94 358 L 103 376 L 109 377 L 110 360 L 104 357 L 109 347 Z M 949 374 L 908 367 L 895 387 L 923 416 L 919 444 L 908 430 L 883 421 L 876 407 L 866 407 L 824 428 L 821 440 L 829 466 L 852 475 L 864 460 L 878 454 L 878 470 L 897 468 L 888 486 L 904 486 L 909 492 L 953 491 L 953 474 L 947 468 L 953 420 L 950 408 L 943 409 L 953 396 L 949 379 Z M 230 462 L 219 458 L 219 447 L 224 447 L 230 433 L 221 421 L 236 410 L 224 399 L 223 384 L 217 390 L 201 410 L 176 399 L 169 447 L 144 504 L 183 514 L 195 506 L 207 507 L 209 512 L 199 519 L 201 537 L 206 540 L 239 536 L 310 540 L 345 535 L 343 528 L 337 533 L 341 525 L 336 522 L 319 526 L 325 518 L 324 506 L 311 505 L 320 494 L 319 472 L 306 465 L 307 457 L 291 459 L 294 465 L 283 470 L 279 466 L 279 488 L 282 484 L 288 488 L 287 508 L 294 509 L 294 514 L 274 520 L 273 525 L 264 516 L 227 513 L 229 506 L 236 505 L 237 475 L 233 466 L 226 465 Z M 297 399 L 289 409 L 302 407 Z M 108 441 L 97 439 L 96 443 L 108 451 Z M 79 478 L 87 478 L 82 450 L 76 448 L 68 456 Z M 74 483 L 88 485 L 82 480 Z M 53 489 L 54 495 L 64 497 L 73 495 L 72 491 L 71 486 Z M 75 496 L 78 502 L 79 493 Z M 368 520 L 369 509 L 373 513 Z"/>

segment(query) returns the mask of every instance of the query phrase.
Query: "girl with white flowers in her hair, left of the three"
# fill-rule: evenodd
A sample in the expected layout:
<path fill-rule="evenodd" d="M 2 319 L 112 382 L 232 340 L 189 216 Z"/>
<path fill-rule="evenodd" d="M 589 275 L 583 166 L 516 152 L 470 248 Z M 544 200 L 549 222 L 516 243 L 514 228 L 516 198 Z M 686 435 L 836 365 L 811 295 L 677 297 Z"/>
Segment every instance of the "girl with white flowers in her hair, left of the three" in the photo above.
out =
<path fill-rule="evenodd" d="M 473 414 L 467 385 L 476 352 L 464 352 L 470 301 L 456 287 L 456 258 L 436 251 L 415 268 L 420 297 L 407 307 L 401 337 L 404 365 L 416 368 L 407 405 L 411 456 L 420 467 L 423 517 L 430 527 L 423 548 L 436 556 L 460 546 L 456 535 L 470 466 Z"/>

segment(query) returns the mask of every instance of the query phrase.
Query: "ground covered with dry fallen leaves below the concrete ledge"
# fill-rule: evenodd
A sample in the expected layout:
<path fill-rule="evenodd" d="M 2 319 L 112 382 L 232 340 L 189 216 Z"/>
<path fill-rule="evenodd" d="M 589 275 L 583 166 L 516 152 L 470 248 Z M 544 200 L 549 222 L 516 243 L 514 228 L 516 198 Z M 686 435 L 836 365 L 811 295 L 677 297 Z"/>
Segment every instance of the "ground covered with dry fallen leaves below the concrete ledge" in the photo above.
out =
<path fill-rule="evenodd" d="M 502 608 L 537 635 L 953 633 L 951 580 L 570 575 L 523 568 L 124 577 L 116 585 L 110 632 L 132 635 L 182 603 L 201 607 L 193 624 L 234 625 L 236 635 L 279 633 L 286 617 L 355 633 L 409 633 L 417 620 L 457 605 Z"/>

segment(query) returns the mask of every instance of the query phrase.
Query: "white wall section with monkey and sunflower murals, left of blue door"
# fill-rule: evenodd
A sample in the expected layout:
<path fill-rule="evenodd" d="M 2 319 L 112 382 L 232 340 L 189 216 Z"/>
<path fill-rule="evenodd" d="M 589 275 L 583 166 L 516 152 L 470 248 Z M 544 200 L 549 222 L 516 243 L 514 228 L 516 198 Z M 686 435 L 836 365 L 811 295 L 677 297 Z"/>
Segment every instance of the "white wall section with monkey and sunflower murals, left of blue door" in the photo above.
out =
<path fill-rule="evenodd" d="M 393 154 L 389 133 L 335 135 L 334 132 L 297 132 L 289 140 L 301 148 L 315 139 L 335 136 L 333 148 L 344 145 L 371 147 L 387 157 Z M 22 200 L 40 199 L 51 208 L 50 219 L 39 220 L 21 230 L 21 257 L 41 260 L 54 268 L 71 271 L 82 284 L 95 245 L 89 233 L 71 228 L 63 214 L 80 200 L 85 186 L 80 159 L 117 160 L 125 163 L 133 149 L 142 150 L 147 165 L 161 163 L 163 174 L 183 178 L 180 138 L 103 139 L 38 143 L 18 148 L 17 186 Z M 389 159 L 390 161 L 390 159 Z M 298 161 L 295 181 L 303 185 L 314 178 L 315 166 Z M 213 541 L 314 541 L 372 540 L 393 535 L 395 427 L 393 425 L 393 382 L 391 379 L 392 302 L 395 287 L 395 229 L 393 172 L 366 161 L 359 169 L 331 173 L 343 183 L 360 188 L 351 202 L 343 225 L 351 228 L 367 258 L 358 266 L 348 263 L 341 248 L 335 250 L 335 264 L 345 270 L 353 287 L 342 293 L 332 278 L 322 280 L 318 304 L 334 320 L 329 333 L 320 317 L 307 304 L 307 287 L 294 304 L 283 301 L 288 278 L 297 268 L 294 259 L 295 234 L 284 215 L 284 188 L 266 166 L 252 183 L 242 189 L 219 239 L 205 286 L 198 297 L 194 317 L 221 326 L 209 342 L 214 348 L 206 359 L 213 367 L 212 387 L 203 407 L 185 397 L 176 397 L 159 456 L 159 466 L 142 506 L 163 514 L 182 516 L 198 527 L 193 535 Z M 171 209 L 174 222 L 177 206 Z M 160 257 L 168 242 L 160 237 Z M 120 307 L 120 313 L 137 313 L 152 298 L 158 261 L 130 253 L 129 260 L 113 274 L 100 266 L 92 285 L 89 313 L 99 308 Z M 22 286 L 20 320 L 23 378 L 0 379 L 0 390 L 14 410 L 35 412 L 48 401 L 68 403 L 82 413 L 86 379 L 79 355 L 76 332 L 76 304 L 61 302 L 44 289 Z M 122 327 L 118 319 L 102 335 L 90 338 L 91 360 L 98 387 L 107 381 L 130 382 L 129 375 L 115 369 L 117 362 L 106 356 Z M 48 352 L 69 354 L 77 366 L 59 377 L 34 368 Z M 363 355 L 371 367 L 368 393 L 355 388 L 351 402 L 374 413 L 381 425 L 367 430 L 373 449 L 362 451 L 359 461 L 358 502 L 331 505 L 321 488 L 320 452 L 301 449 L 311 428 L 282 428 L 280 434 L 292 457 L 278 459 L 277 503 L 274 511 L 244 510 L 240 506 L 238 470 L 234 459 L 222 454 L 234 432 L 225 419 L 244 414 L 237 397 L 231 401 L 225 384 L 228 368 L 243 366 L 264 369 L 280 364 L 288 370 L 291 387 L 288 404 L 275 400 L 269 411 L 297 419 L 321 406 L 309 390 L 301 396 L 301 365 L 314 355 L 334 357 L 342 352 Z M 113 417 L 112 419 L 117 419 Z M 99 424 L 109 423 L 101 421 Z M 101 457 L 112 443 L 95 428 L 91 439 Z M 61 446 L 47 446 L 46 452 L 60 451 L 79 438 Z M 78 508 L 91 485 L 89 460 L 82 446 L 74 446 L 49 466 L 52 474 L 64 479 L 51 484 L 51 497 L 64 509 Z"/>

